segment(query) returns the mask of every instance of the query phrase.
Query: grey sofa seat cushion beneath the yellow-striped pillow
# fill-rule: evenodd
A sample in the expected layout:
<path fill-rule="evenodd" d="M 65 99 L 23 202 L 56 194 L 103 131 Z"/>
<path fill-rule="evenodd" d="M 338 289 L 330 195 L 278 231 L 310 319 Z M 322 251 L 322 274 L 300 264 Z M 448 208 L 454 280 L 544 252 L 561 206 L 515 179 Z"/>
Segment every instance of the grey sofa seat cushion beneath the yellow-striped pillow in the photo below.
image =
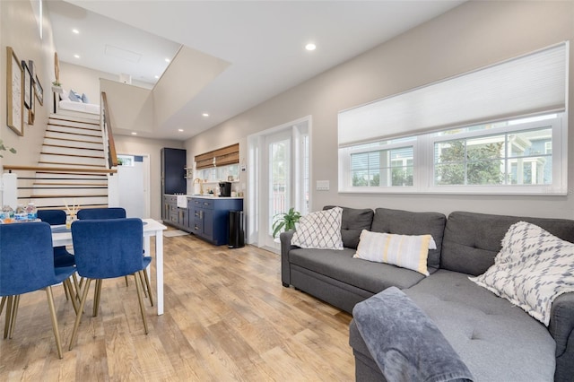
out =
<path fill-rule="evenodd" d="M 292 265 L 299 265 L 372 293 L 384 291 L 389 286 L 409 288 L 424 279 L 424 275 L 416 271 L 352 258 L 354 253 L 352 248 L 344 248 L 342 251 L 296 248 L 291 249 L 289 261 Z"/>

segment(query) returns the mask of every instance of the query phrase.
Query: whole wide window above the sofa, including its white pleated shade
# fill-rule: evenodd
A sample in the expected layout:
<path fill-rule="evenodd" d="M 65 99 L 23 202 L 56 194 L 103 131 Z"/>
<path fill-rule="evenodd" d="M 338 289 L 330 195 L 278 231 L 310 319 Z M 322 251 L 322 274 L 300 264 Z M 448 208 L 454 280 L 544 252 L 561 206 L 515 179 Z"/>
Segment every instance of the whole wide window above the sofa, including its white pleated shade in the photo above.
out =
<path fill-rule="evenodd" d="M 339 191 L 565 195 L 569 50 L 340 111 Z"/>

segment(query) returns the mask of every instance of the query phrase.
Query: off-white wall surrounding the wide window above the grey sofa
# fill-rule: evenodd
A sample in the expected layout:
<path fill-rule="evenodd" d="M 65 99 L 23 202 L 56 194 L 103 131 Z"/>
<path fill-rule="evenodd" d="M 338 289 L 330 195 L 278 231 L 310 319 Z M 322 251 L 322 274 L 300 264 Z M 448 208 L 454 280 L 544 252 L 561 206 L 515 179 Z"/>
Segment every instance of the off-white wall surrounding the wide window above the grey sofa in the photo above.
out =
<path fill-rule="evenodd" d="M 267 100 L 186 142 L 188 158 L 311 115 L 311 210 L 325 204 L 574 218 L 574 47 L 570 47 L 567 196 L 345 195 L 337 185 L 337 112 L 509 57 L 574 40 L 574 2 L 471 1 Z"/>

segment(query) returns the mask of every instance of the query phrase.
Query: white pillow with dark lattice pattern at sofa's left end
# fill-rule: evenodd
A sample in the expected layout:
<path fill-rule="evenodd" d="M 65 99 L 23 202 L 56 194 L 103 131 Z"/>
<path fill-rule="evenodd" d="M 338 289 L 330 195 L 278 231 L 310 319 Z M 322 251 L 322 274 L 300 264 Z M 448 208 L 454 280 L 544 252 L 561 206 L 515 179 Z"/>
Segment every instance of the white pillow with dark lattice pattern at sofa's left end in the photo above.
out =
<path fill-rule="evenodd" d="M 342 216 L 341 207 L 301 216 L 291 244 L 301 248 L 343 249 Z"/>

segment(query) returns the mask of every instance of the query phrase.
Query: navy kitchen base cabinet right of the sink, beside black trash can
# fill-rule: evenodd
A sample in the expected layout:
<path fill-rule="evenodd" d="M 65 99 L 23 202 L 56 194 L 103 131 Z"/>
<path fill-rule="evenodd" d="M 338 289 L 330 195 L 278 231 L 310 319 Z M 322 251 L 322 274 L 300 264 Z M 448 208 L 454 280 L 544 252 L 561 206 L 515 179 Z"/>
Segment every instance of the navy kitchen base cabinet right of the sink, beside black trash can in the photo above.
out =
<path fill-rule="evenodd" d="M 243 199 L 192 197 L 187 205 L 192 233 L 216 246 L 228 244 L 229 214 L 243 210 Z"/>

